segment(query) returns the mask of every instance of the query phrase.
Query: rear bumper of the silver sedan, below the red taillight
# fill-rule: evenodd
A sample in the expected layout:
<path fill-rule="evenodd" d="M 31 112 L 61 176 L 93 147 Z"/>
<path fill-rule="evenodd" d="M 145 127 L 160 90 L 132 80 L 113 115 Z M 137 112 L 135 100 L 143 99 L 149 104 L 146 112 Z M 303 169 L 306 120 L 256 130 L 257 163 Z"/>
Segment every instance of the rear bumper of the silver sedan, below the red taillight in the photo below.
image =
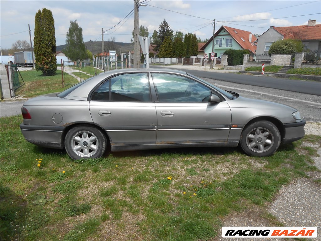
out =
<path fill-rule="evenodd" d="M 20 124 L 24 138 L 32 144 L 41 147 L 63 149 L 62 134 L 63 126 L 33 126 Z"/>

